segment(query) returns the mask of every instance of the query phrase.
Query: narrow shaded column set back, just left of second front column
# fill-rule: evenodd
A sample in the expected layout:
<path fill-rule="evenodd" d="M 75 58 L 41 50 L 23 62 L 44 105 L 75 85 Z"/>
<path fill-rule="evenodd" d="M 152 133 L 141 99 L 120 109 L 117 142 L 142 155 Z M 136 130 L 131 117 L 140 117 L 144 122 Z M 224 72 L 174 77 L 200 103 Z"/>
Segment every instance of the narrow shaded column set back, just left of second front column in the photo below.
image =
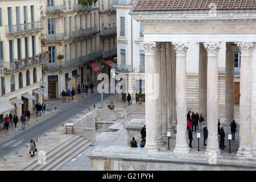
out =
<path fill-rule="evenodd" d="M 166 47 L 166 60 L 167 60 L 167 76 L 166 76 L 166 81 L 167 81 L 167 130 L 168 131 L 174 131 L 174 126 L 172 123 L 172 111 L 173 111 L 173 103 L 174 103 L 174 98 L 172 97 L 172 44 L 170 42 L 167 42 L 167 47 Z"/>

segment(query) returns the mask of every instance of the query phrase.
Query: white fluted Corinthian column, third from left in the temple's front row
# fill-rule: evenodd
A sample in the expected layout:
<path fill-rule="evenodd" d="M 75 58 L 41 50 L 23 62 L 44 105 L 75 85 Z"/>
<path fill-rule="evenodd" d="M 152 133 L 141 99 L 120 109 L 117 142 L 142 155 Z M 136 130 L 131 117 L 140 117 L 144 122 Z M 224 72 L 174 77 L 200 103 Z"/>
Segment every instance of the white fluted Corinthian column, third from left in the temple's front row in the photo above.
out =
<path fill-rule="evenodd" d="M 220 42 L 207 42 L 207 126 L 208 142 L 205 153 L 220 153 L 218 146 L 218 50 Z"/>

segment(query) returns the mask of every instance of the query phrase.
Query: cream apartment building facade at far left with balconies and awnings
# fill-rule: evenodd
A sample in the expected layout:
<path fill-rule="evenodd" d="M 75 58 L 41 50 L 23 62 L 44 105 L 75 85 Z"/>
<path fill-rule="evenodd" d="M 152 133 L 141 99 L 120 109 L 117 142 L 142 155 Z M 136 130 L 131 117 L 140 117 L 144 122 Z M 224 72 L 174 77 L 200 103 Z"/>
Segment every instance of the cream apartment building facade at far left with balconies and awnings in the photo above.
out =
<path fill-rule="evenodd" d="M 1 110 L 5 114 L 33 113 L 42 102 L 42 65 L 48 54 L 41 51 L 39 1 L 9 0 L 0 2 Z"/>

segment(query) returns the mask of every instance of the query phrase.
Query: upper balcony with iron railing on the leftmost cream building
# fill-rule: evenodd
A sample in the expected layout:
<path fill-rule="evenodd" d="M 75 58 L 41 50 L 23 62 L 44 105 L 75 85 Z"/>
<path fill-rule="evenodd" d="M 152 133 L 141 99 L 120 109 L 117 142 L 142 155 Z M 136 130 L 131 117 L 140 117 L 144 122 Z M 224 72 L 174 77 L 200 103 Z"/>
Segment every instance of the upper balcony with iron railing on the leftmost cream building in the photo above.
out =
<path fill-rule="evenodd" d="M 16 35 L 16 34 L 25 34 L 27 32 L 43 30 L 44 24 L 43 21 L 33 22 L 33 23 L 24 23 L 24 24 L 14 24 L 6 25 L 5 32 L 6 35 Z"/>

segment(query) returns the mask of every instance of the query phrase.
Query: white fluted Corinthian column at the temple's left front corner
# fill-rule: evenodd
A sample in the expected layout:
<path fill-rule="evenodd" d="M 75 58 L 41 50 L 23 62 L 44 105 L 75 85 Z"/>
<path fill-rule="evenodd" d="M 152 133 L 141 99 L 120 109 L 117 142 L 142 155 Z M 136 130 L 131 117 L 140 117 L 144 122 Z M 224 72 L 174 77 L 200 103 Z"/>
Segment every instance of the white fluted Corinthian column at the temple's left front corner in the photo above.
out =
<path fill-rule="evenodd" d="M 158 64 L 155 59 L 155 42 L 143 42 L 142 46 L 145 49 L 145 109 L 146 109 L 146 135 L 147 142 L 146 148 L 148 152 L 154 152 L 158 150 L 158 144 L 156 143 L 156 129 L 158 111 L 156 110 L 159 96 L 159 75 Z"/>

